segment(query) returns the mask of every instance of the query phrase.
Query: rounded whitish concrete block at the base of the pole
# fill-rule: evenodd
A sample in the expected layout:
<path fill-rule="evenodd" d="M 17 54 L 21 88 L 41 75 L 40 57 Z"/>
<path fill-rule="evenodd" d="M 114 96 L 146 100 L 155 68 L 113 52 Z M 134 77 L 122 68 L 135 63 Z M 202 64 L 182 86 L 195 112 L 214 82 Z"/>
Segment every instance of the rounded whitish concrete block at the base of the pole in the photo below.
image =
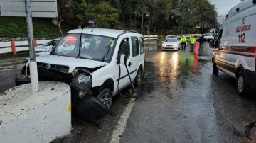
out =
<path fill-rule="evenodd" d="M 31 84 L 0 94 L 0 142 L 51 142 L 70 134 L 70 86 L 42 81 L 39 87 L 34 94 Z"/>

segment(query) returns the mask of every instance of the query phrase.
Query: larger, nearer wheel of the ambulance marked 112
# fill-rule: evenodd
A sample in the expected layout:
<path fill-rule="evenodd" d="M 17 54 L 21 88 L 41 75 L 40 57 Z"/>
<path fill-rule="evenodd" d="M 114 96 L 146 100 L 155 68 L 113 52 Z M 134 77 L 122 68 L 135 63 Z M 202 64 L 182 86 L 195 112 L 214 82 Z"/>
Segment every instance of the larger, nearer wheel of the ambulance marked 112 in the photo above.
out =
<path fill-rule="evenodd" d="M 237 90 L 238 94 L 242 97 L 246 96 L 247 93 L 247 81 L 245 79 L 245 74 L 242 71 L 239 71 L 237 77 Z"/>

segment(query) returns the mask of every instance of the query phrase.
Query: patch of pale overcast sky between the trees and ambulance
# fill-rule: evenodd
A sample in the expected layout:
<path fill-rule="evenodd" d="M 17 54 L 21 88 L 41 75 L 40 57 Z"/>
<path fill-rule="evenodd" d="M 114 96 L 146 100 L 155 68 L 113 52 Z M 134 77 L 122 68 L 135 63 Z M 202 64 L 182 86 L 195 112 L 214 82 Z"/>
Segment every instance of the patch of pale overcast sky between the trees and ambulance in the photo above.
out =
<path fill-rule="evenodd" d="M 240 0 L 208 0 L 211 4 L 215 4 L 215 7 L 217 8 L 218 16 L 220 15 L 226 15 L 228 14 L 228 11 L 233 6 L 240 3 Z M 246 0 L 245 0 L 246 1 Z"/>

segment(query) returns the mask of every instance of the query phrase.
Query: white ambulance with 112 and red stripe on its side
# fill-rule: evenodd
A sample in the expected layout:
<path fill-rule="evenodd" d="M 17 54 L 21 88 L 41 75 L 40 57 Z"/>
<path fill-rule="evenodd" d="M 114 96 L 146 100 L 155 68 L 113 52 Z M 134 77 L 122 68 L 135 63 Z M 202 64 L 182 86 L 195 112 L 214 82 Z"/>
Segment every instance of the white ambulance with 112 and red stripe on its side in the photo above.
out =
<path fill-rule="evenodd" d="M 218 70 L 237 79 L 240 96 L 256 88 L 256 0 L 240 2 L 228 12 L 213 47 L 213 74 Z M 256 93 L 254 93 L 256 94 Z"/>

